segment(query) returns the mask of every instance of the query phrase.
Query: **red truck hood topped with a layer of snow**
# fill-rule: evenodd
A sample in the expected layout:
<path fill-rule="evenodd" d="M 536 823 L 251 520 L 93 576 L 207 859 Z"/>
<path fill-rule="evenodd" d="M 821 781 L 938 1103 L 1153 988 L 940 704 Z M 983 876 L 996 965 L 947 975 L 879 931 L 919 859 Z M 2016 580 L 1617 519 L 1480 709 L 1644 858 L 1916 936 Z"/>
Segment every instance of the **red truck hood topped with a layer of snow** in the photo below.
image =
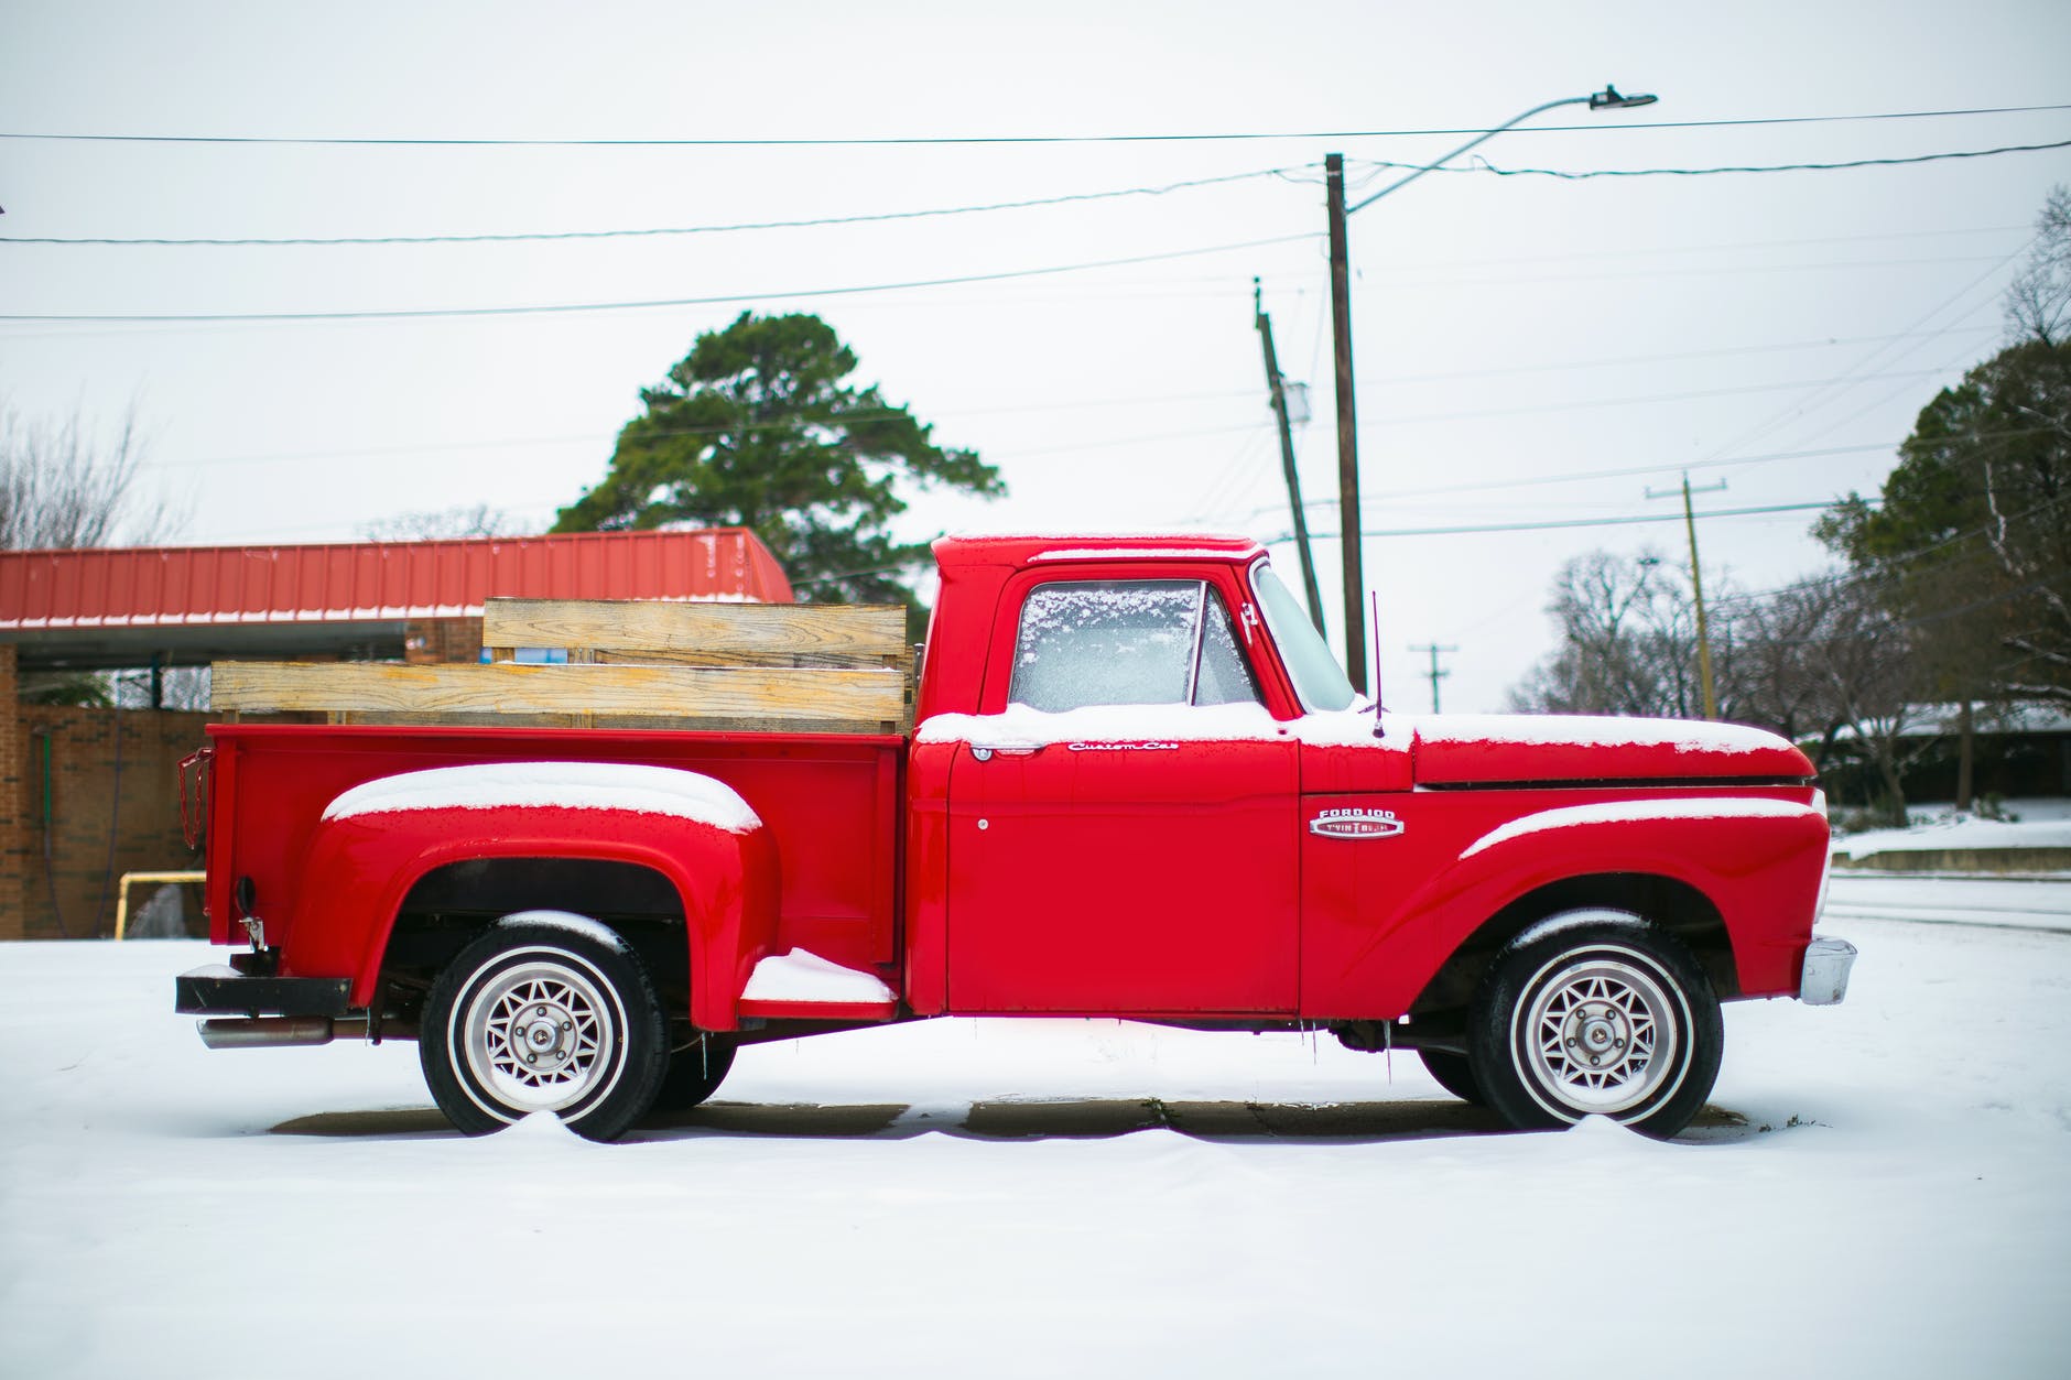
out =
<path fill-rule="evenodd" d="M 1388 715 L 1417 785 L 1530 781 L 1808 781 L 1787 740 L 1740 723 L 1591 715 Z M 1398 740 L 1400 742 L 1400 740 Z"/>

